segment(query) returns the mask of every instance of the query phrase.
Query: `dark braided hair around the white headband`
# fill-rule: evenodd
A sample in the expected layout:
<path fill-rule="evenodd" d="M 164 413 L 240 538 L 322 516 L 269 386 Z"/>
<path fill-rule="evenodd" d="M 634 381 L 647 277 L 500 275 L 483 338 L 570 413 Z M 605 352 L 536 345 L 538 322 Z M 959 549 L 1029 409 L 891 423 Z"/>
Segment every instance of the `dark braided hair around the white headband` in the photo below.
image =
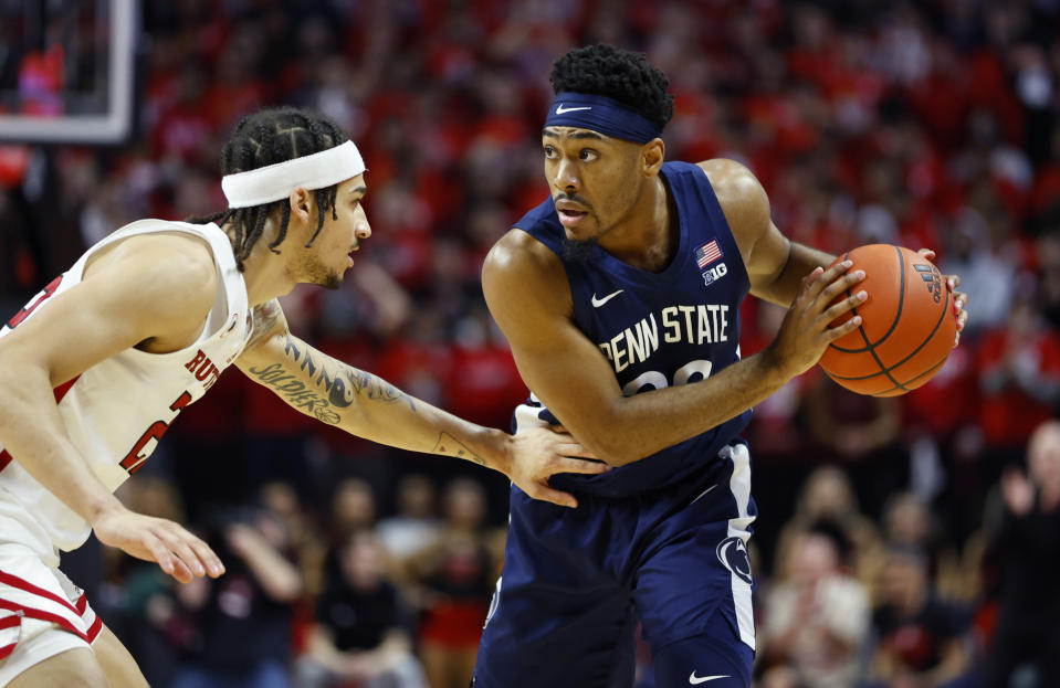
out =
<path fill-rule="evenodd" d="M 349 140 L 342 128 L 323 115 L 295 107 L 266 108 L 249 115 L 235 125 L 232 138 L 221 151 L 221 173 L 234 174 L 245 172 L 276 162 L 293 160 L 328 148 L 334 148 Z M 335 212 L 335 193 L 338 184 L 315 189 L 317 204 L 316 232 L 306 246 L 313 245 L 316 236 L 324 227 L 324 213 L 332 211 L 332 219 L 337 219 Z M 280 211 L 280 232 L 276 239 L 269 244 L 269 250 L 276 250 L 287 235 L 287 223 L 291 220 L 291 204 L 287 199 L 280 199 L 250 208 L 229 208 L 206 218 L 189 218 L 193 224 L 216 222 L 219 225 L 231 223 L 232 250 L 235 253 L 235 265 L 243 271 L 243 261 L 250 256 L 251 250 L 261 237 L 265 229 L 265 221 L 276 210 Z"/>

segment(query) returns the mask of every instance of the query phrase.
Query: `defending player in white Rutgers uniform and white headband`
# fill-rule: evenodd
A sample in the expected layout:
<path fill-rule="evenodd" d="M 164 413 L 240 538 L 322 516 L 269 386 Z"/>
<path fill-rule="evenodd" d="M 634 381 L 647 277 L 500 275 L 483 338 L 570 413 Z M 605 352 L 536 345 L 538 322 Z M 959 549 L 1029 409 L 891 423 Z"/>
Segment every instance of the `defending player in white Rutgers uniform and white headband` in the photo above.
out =
<path fill-rule="evenodd" d="M 550 475 L 606 470 L 569 435 L 468 423 L 287 330 L 276 297 L 338 286 L 371 234 L 364 162 L 334 123 L 263 110 L 223 158 L 228 210 L 122 227 L 0 329 L 0 686 L 147 685 L 59 551 L 93 531 L 181 582 L 223 573 L 202 540 L 113 490 L 232 363 L 324 423 L 477 462 L 556 504 L 576 502 Z"/>

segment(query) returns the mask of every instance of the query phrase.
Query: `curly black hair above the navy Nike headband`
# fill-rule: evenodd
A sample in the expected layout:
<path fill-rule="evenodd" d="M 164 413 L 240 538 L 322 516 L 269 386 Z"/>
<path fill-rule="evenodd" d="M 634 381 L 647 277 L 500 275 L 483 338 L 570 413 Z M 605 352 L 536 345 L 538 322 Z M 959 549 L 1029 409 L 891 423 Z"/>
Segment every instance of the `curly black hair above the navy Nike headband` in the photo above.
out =
<path fill-rule="evenodd" d="M 673 117 L 670 80 L 643 53 L 607 43 L 576 47 L 553 64 L 555 93 L 601 95 L 628 105 L 662 131 Z"/>

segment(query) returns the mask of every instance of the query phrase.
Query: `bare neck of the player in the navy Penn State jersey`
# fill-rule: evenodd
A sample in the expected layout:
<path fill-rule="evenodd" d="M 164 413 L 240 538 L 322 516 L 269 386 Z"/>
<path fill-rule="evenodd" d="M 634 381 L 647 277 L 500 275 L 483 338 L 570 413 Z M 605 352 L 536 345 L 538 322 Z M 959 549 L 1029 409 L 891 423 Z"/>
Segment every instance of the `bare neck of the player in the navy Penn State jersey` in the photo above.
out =
<path fill-rule="evenodd" d="M 678 248 L 675 219 L 667 184 L 661 176 L 655 177 L 644 186 L 629 215 L 600 239 L 600 247 L 628 265 L 661 272 Z"/>

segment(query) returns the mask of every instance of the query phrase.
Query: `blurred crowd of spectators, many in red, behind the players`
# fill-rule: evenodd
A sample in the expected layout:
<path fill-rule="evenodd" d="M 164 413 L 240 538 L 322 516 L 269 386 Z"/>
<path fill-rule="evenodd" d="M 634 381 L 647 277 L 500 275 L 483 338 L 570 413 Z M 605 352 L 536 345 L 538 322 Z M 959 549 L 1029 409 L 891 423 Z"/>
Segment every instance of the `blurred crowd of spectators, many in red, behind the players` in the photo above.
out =
<path fill-rule="evenodd" d="M 815 370 L 757 407 L 757 685 L 1060 686 L 1060 2 L 141 11 L 132 140 L 0 146 L 6 311 L 126 222 L 221 209 L 232 126 L 263 105 L 312 107 L 365 155 L 374 235 L 342 289 L 284 299 L 292 329 L 507 427 L 526 390 L 479 269 L 547 193 L 552 61 L 598 41 L 644 51 L 675 96 L 670 159 L 741 160 L 789 237 L 930 247 L 970 296 L 959 348 L 921 390 L 858 396 Z M 748 303 L 745 356 L 783 315 Z M 506 491 L 498 475 L 318 427 L 231 373 L 122 490 L 196 525 L 228 574 L 176 585 L 104 552 L 84 575 L 104 571 L 94 604 L 154 686 L 463 688 Z"/>

